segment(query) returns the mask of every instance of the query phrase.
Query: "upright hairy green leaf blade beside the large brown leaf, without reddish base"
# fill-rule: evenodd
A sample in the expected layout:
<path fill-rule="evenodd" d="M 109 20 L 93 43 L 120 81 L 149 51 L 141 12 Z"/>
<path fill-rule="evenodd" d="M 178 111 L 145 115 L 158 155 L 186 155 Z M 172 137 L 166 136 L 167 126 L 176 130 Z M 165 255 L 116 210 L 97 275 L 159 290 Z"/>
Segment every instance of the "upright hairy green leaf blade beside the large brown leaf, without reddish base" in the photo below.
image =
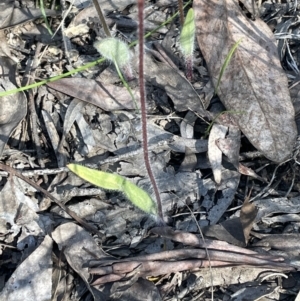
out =
<path fill-rule="evenodd" d="M 194 20 L 194 10 L 192 8 L 189 9 L 183 28 L 180 34 L 180 47 L 182 54 L 185 57 L 189 57 L 193 55 L 194 47 L 195 47 L 195 20 Z"/>

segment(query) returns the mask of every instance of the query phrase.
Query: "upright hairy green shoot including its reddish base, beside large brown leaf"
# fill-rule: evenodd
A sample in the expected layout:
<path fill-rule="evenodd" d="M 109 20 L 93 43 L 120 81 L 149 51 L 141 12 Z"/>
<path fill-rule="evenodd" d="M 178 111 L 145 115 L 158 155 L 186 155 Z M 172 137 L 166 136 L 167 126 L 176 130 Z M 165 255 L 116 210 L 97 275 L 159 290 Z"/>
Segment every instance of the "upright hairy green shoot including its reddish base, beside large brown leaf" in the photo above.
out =
<path fill-rule="evenodd" d="M 180 34 L 180 48 L 185 58 L 186 64 L 186 77 L 188 80 L 192 80 L 193 77 L 193 58 L 195 49 L 195 16 L 194 10 L 190 8 L 188 11 L 184 25 Z"/>

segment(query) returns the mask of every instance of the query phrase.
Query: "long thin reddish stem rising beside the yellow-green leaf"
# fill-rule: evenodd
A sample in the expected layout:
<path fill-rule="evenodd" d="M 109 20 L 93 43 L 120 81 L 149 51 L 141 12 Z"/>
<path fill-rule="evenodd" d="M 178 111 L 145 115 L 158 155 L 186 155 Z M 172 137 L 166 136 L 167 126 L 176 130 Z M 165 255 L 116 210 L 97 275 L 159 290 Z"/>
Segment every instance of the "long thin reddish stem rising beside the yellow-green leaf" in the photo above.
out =
<path fill-rule="evenodd" d="M 148 150 L 148 132 L 147 132 L 147 109 L 146 109 L 146 89 L 144 78 L 144 0 L 138 0 L 138 22 L 139 22 L 139 86 L 140 86 L 140 102 L 141 102 L 141 122 L 142 122 L 142 139 L 143 139 L 143 154 L 146 170 L 152 184 L 156 202 L 158 215 L 163 222 L 163 212 L 159 190 L 153 175 Z"/>

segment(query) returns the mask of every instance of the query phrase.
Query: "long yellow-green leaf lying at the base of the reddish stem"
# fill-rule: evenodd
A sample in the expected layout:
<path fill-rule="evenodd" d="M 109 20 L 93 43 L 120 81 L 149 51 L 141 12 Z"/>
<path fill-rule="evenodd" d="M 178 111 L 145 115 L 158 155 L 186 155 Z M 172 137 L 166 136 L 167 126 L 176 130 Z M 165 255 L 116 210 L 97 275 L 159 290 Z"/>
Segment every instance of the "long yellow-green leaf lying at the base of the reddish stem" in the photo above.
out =
<path fill-rule="evenodd" d="M 126 178 L 77 164 L 68 164 L 67 167 L 77 176 L 91 184 L 103 189 L 124 193 L 133 205 L 148 214 L 157 215 L 156 204 L 149 194 Z"/>

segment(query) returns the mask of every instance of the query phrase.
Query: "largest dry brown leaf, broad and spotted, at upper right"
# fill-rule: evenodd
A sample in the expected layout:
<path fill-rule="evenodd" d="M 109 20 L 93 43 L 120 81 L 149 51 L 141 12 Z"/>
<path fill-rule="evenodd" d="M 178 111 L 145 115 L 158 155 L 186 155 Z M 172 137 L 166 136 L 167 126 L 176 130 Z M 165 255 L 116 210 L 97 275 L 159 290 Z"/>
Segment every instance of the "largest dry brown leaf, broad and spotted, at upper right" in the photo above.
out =
<path fill-rule="evenodd" d="M 195 0 L 197 40 L 216 86 L 232 46 L 242 39 L 225 69 L 218 94 L 242 132 L 267 158 L 290 156 L 297 131 L 288 82 L 275 39 L 260 19 L 248 20 L 236 0 Z"/>

